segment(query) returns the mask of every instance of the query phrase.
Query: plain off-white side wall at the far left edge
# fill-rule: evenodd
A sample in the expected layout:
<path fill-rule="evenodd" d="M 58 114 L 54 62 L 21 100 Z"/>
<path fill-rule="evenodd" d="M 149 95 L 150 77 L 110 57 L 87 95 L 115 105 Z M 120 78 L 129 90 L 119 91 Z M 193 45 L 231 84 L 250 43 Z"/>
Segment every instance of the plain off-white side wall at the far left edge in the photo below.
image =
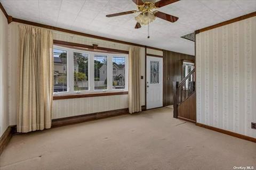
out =
<path fill-rule="evenodd" d="M 8 23 L 0 10 L 0 137 L 9 126 L 8 115 Z"/>

